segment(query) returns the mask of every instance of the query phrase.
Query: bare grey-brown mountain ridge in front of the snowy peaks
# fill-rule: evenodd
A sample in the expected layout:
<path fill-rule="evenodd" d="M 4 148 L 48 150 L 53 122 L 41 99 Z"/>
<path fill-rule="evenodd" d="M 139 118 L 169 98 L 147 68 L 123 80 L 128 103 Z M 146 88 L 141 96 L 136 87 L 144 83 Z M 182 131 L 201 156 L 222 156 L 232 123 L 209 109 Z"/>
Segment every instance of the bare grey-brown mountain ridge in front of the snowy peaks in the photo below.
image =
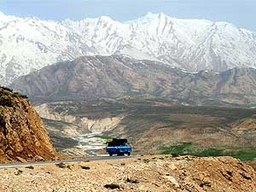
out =
<path fill-rule="evenodd" d="M 256 69 L 188 73 L 122 55 L 82 56 L 16 79 L 14 90 L 51 101 L 142 96 L 188 104 L 256 102 Z"/>

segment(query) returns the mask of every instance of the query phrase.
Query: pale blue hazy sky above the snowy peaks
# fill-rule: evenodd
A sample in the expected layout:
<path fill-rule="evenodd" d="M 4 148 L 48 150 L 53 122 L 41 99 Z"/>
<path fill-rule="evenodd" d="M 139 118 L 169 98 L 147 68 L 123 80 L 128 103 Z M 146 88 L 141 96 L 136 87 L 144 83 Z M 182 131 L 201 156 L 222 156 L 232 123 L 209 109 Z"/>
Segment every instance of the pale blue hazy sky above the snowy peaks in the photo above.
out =
<path fill-rule="evenodd" d="M 163 12 L 177 18 L 229 21 L 256 31 L 256 0 L 0 0 L 0 10 L 45 20 L 108 15 L 120 21 Z"/>

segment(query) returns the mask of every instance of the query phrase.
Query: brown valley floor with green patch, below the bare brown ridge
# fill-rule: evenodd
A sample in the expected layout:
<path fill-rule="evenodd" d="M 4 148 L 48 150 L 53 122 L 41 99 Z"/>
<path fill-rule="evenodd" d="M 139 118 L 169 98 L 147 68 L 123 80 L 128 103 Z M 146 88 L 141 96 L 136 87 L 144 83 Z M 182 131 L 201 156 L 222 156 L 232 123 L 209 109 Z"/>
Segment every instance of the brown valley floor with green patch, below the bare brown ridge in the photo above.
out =
<path fill-rule="evenodd" d="M 61 131 L 64 137 L 70 138 L 69 130 L 76 125 L 78 136 L 101 132 L 98 135 L 103 138 L 128 138 L 136 153 L 233 155 L 242 160 L 256 157 L 253 108 L 195 107 L 139 98 L 51 102 L 36 108 L 47 127 L 47 119 L 52 121 L 48 129 Z M 60 122 L 67 127 L 60 129 Z"/>

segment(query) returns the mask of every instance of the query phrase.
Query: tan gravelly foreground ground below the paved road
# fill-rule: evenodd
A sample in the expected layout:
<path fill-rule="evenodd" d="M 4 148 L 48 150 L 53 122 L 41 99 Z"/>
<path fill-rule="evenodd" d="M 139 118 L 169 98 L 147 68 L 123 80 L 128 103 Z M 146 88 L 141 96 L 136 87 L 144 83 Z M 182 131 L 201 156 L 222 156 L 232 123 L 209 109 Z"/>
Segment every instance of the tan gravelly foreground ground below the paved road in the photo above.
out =
<path fill-rule="evenodd" d="M 0 170 L 1 191 L 254 192 L 253 167 L 230 157 L 137 156 Z"/>

